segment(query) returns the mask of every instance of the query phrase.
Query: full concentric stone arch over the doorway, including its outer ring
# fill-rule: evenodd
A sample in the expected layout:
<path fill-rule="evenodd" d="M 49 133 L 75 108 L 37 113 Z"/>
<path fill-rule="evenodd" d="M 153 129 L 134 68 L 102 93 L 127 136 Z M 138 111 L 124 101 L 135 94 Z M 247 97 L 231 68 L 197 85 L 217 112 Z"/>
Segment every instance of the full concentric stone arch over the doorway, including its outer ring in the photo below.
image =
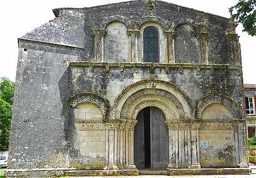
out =
<path fill-rule="evenodd" d="M 161 109 L 166 119 L 192 118 L 190 99 L 177 87 L 161 80 L 142 80 L 130 85 L 116 99 L 113 119 L 136 119 L 147 106 Z"/>

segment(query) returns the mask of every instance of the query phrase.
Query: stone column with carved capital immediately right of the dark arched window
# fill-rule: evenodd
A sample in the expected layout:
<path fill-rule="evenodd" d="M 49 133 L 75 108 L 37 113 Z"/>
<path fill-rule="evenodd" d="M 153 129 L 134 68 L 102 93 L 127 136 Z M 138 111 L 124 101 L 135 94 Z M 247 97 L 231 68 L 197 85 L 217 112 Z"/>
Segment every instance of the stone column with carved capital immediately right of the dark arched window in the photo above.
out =
<path fill-rule="evenodd" d="M 175 63 L 175 52 L 174 52 L 174 39 L 175 31 L 164 31 L 165 37 L 167 38 L 166 53 L 168 54 L 168 63 Z"/>

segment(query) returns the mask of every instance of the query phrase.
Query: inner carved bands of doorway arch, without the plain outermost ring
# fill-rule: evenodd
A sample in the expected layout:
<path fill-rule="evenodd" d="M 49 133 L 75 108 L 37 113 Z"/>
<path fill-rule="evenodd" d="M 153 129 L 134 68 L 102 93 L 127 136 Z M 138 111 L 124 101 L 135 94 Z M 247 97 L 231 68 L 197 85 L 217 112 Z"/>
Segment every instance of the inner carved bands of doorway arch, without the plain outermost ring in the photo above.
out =
<path fill-rule="evenodd" d="M 184 119 L 183 106 L 179 100 L 163 89 L 141 89 L 129 96 L 121 110 L 121 118 L 136 119 L 138 110 L 155 106 L 165 113 L 166 119 Z"/>

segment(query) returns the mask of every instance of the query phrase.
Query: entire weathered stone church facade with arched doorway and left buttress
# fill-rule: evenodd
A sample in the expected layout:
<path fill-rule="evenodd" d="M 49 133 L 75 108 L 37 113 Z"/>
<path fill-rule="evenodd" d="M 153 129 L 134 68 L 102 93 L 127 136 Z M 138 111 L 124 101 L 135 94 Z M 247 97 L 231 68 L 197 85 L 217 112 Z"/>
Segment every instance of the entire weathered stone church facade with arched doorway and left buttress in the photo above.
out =
<path fill-rule="evenodd" d="M 18 39 L 7 177 L 249 174 L 232 19 L 142 0 L 53 13 Z"/>

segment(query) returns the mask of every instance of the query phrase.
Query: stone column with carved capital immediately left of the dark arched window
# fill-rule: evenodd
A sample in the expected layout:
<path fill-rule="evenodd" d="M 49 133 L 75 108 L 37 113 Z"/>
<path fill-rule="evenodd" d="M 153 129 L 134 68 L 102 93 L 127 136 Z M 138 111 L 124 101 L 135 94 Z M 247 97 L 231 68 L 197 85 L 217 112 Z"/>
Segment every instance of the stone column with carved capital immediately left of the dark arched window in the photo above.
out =
<path fill-rule="evenodd" d="M 138 37 L 140 35 L 140 31 L 139 30 L 127 30 L 127 35 L 128 35 L 128 39 L 130 39 L 129 41 L 129 58 L 130 58 L 130 62 L 138 62 Z"/>

